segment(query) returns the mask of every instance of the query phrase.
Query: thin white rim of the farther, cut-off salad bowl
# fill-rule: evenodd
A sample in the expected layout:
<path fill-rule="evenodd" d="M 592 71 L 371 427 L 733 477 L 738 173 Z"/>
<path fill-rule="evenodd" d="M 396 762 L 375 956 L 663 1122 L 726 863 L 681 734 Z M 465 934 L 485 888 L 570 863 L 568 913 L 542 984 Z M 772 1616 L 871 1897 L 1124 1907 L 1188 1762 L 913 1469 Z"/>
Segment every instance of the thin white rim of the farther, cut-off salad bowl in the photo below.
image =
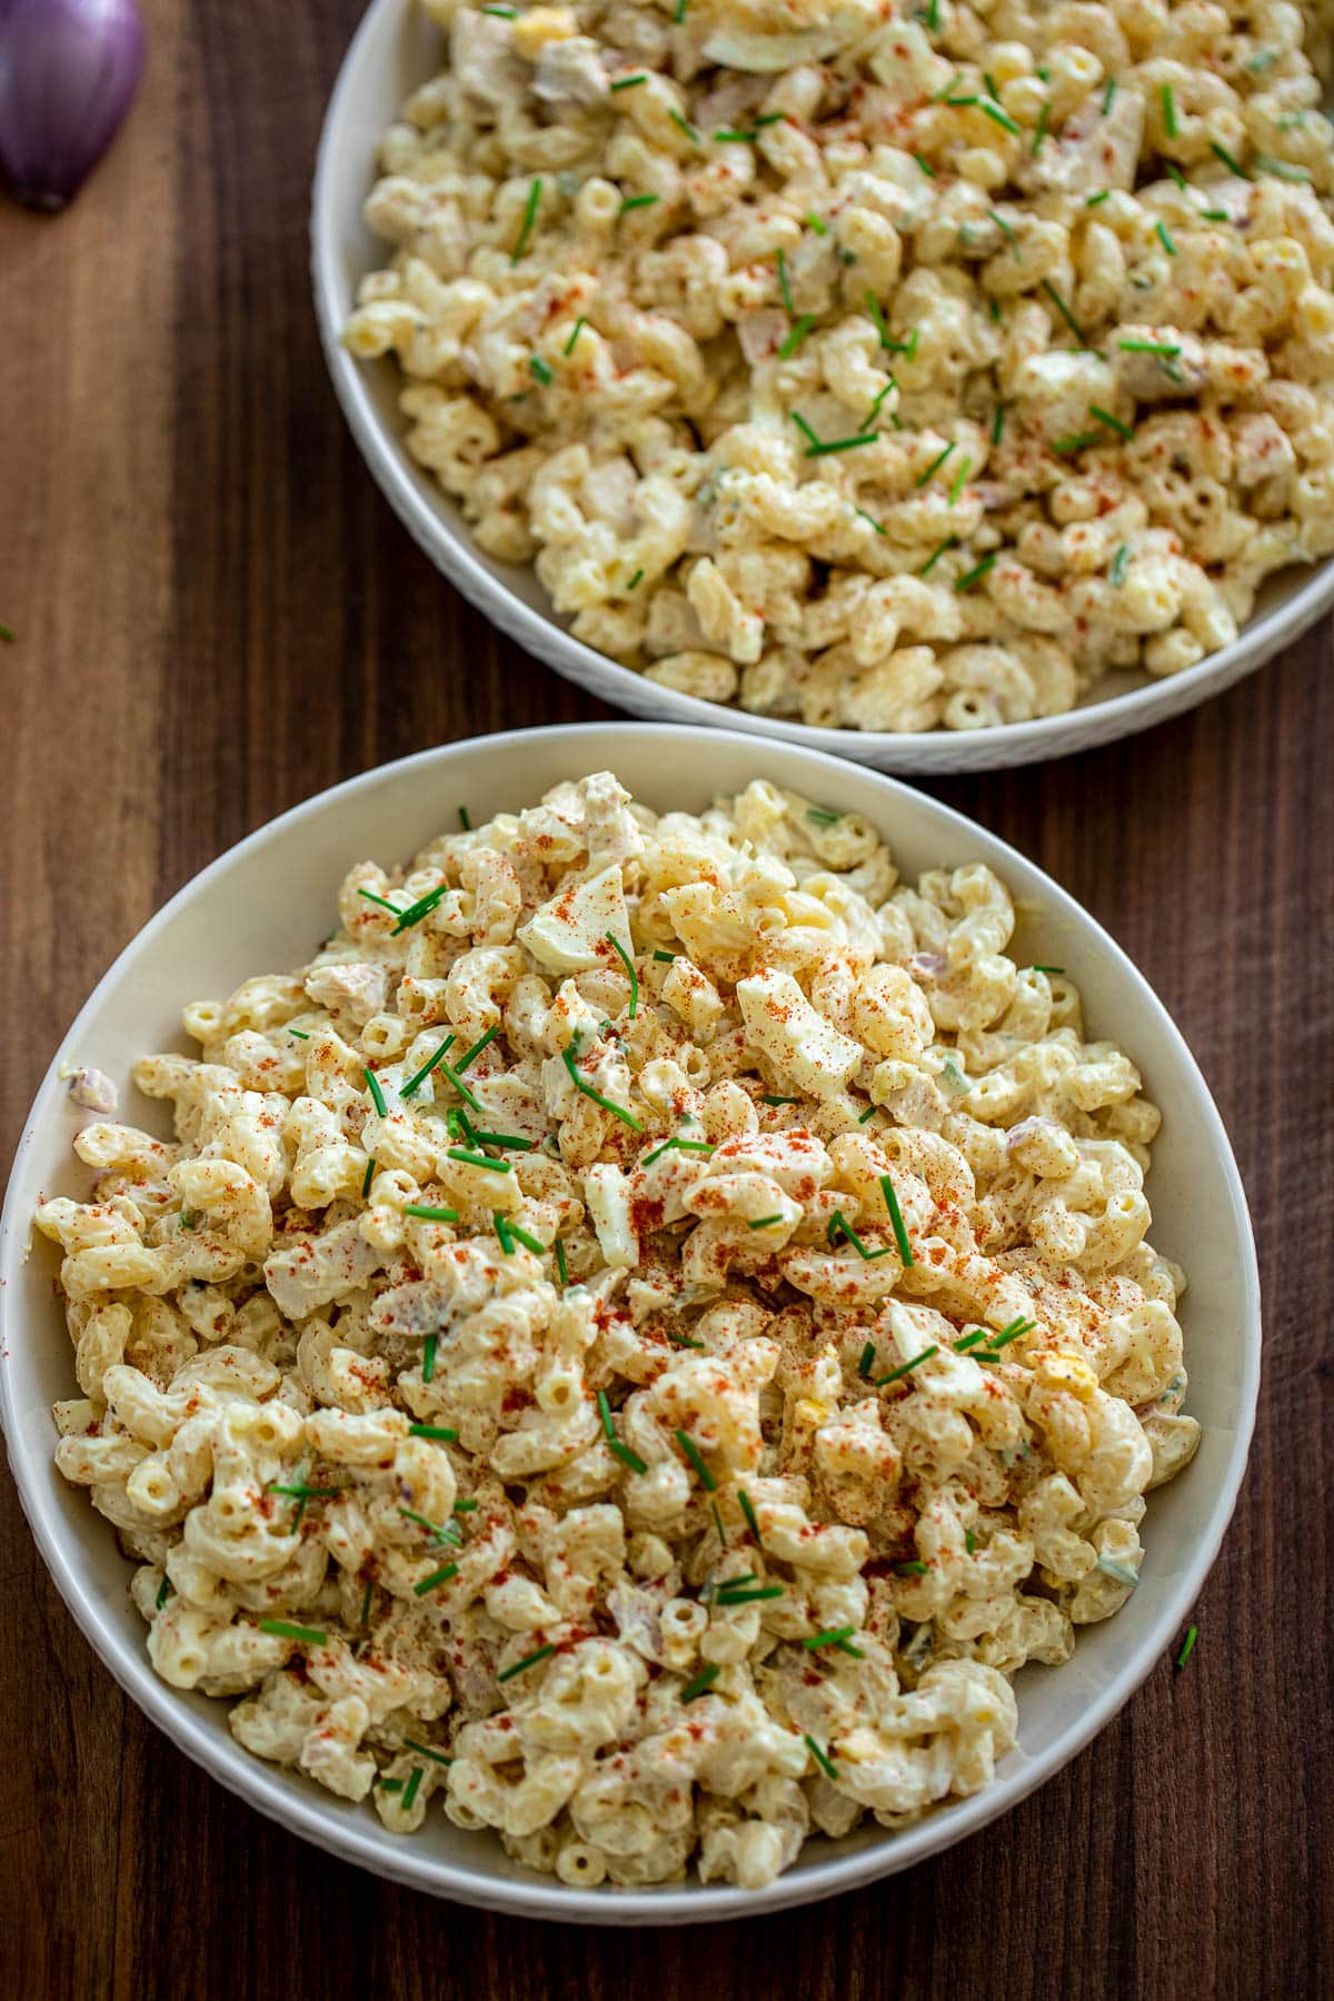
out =
<path fill-rule="evenodd" d="M 1222 694 L 1242 676 L 1254 672 L 1280 648 L 1296 640 L 1314 620 L 1334 606 L 1334 556 L 1316 562 L 1278 604 L 1252 618 L 1234 640 L 1160 680 L 1120 694 L 1094 698 L 1084 708 L 1062 710 L 1056 716 L 1034 716 L 1028 722 L 998 722 L 982 730 L 836 730 L 814 722 L 752 714 L 724 702 L 706 702 L 698 694 L 682 694 L 646 682 L 632 666 L 622 666 L 610 654 L 598 652 L 558 620 L 552 610 L 526 604 L 484 560 L 468 528 L 454 528 L 426 472 L 414 468 L 402 438 L 382 422 L 370 394 L 364 362 L 342 344 L 344 306 L 340 236 L 348 216 L 334 198 L 336 154 L 342 128 L 360 90 L 360 66 L 386 24 L 404 16 L 416 0 L 370 0 L 342 58 L 338 80 L 328 100 L 310 200 L 310 276 L 314 288 L 320 346 L 334 384 L 334 394 L 348 420 L 352 436 L 380 492 L 390 502 L 418 548 L 434 566 L 508 638 L 526 652 L 554 666 L 578 686 L 644 714 L 652 688 L 654 718 L 704 724 L 706 728 L 744 730 L 778 742 L 826 750 L 876 768 L 904 772 L 992 770 L 1014 764 L 1042 762 L 1070 750 L 1094 748 L 1120 736 L 1150 728 L 1154 722 L 1196 706 L 1210 694 Z M 398 112 L 390 106 L 384 122 Z"/>

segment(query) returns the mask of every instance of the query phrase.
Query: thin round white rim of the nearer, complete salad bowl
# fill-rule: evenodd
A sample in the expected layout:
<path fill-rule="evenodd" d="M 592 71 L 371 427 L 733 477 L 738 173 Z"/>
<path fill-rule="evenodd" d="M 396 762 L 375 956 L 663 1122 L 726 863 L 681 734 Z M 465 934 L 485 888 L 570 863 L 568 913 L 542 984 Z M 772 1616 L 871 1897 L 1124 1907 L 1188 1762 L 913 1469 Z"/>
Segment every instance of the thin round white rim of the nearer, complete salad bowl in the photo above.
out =
<path fill-rule="evenodd" d="M 44 1499 L 38 1485 L 36 1467 L 40 1465 L 42 1469 L 48 1469 L 50 1441 L 42 1437 L 38 1447 L 38 1443 L 30 1437 L 32 1427 L 22 1421 L 24 1413 L 14 1403 L 16 1391 L 12 1371 L 4 1367 L 8 1357 L 18 1353 L 26 1339 L 26 1329 L 20 1325 L 22 1311 L 14 1305 L 14 1301 L 20 1299 L 18 1275 L 22 1261 L 28 1255 L 32 1235 L 32 1217 L 28 1207 L 30 1193 L 22 1187 L 22 1157 L 38 1129 L 52 1085 L 60 1077 L 64 1049 L 90 1037 L 90 1031 L 96 1027 L 100 1015 L 102 996 L 112 982 L 118 980 L 122 966 L 126 966 L 126 962 L 140 952 L 148 950 L 152 940 L 172 922 L 176 912 L 182 910 L 182 906 L 216 876 L 224 874 L 250 852 L 266 848 L 274 840 L 282 842 L 286 832 L 306 820 L 318 818 L 354 792 L 434 766 L 444 772 L 448 766 L 464 762 L 482 744 L 512 746 L 518 756 L 524 744 L 548 740 L 552 734 L 560 734 L 562 740 L 570 742 L 576 756 L 576 764 L 572 768 L 596 768 L 582 760 L 584 754 L 596 754 L 602 762 L 610 760 L 614 764 L 614 744 L 618 738 L 624 740 L 628 732 L 634 732 L 636 738 L 656 736 L 672 744 L 680 744 L 682 736 L 708 736 L 712 742 L 722 734 L 732 742 L 738 756 L 756 756 L 754 740 L 738 730 L 720 732 L 716 728 L 702 730 L 666 722 L 652 724 L 624 720 L 572 722 L 560 724 L 554 730 L 550 726 L 502 730 L 488 736 L 460 738 L 452 744 L 434 744 L 426 750 L 416 750 L 410 756 L 356 772 L 338 784 L 314 792 L 312 796 L 290 806 L 286 812 L 276 814 L 272 820 L 266 820 L 200 868 L 198 874 L 184 882 L 148 918 L 142 930 L 128 940 L 96 982 L 76 1019 L 60 1037 L 60 1045 L 44 1071 L 14 1151 L 4 1213 L 0 1215 L 0 1425 L 6 1435 L 10 1469 L 14 1473 L 24 1515 L 28 1517 L 28 1525 L 42 1559 L 56 1583 L 56 1589 L 60 1591 L 60 1597 L 74 1615 L 76 1625 L 82 1629 L 92 1649 L 110 1669 L 126 1695 L 132 1697 L 138 1709 L 152 1723 L 156 1723 L 180 1751 L 202 1765 L 228 1791 L 236 1793 L 252 1807 L 258 1807 L 260 1813 L 278 1821 L 288 1831 L 312 1841 L 316 1847 L 322 1847 L 344 1861 L 358 1863 L 360 1867 L 388 1877 L 390 1881 L 422 1889 L 432 1895 L 456 1899 L 482 1909 L 510 1911 L 524 1917 L 542 1917 L 564 1923 L 676 1925 L 712 1923 L 734 1917 L 760 1917 L 778 1909 L 790 1909 L 840 1895 L 842 1891 L 856 1889 L 880 1877 L 896 1875 L 898 1871 L 924 1861 L 928 1855 L 966 1839 L 990 1821 L 998 1819 L 1002 1813 L 1008 1813 L 1032 1791 L 1044 1785 L 1046 1779 L 1060 1771 L 1078 1751 L 1082 1751 L 1084 1745 L 1088 1745 L 1092 1737 L 1096 1737 L 1098 1731 L 1110 1723 L 1110 1719 L 1124 1707 L 1124 1703 L 1160 1663 L 1172 1643 L 1172 1637 L 1180 1629 L 1186 1611 L 1194 1605 L 1232 1519 L 1236 1495 L 1246 1471 L 1260 1383 L 1260 1277 L 1240 1171 L 1212 1093 L 1168 1009 L 1122 946 L 1080 902 L 1076 902 L 1068 890 L 1048 876 L 1046 870 L 1028 860 L 1018 848 L 1010 846 L 1010 842 L 990 832 L 990 828 L 980 826 L 956 808 L 944 806 L 940 800 L 916 790 L 900 778 L 892 778 L 884 772 L 866 772 L 866 776 L 884 792 L 886 812 L 892 808 L 896 798 L 910 802 L 914 810 L 926 808 L 928 816 L 938 822 L 944 838 L 966 838 L 974 844 L 974 850 L 978 846 L 982 850 L 990 850 L 986 858 L 998 866 L 1000 872 L 1010 870 L 1010 880 L 1014 880 L 1014 876 L 1038 876 L 1044 896 L 1044 914 L 1074 920 L 1080 930 L 1080 948 L 1104 952 L 1116 962 L 1118 970 L 1128 976 L 1130 984 L 1136 988 L 1146 1019 L 1154 1019 L 1160 1035 L 1166 1039 L 1166 1061 L 1174 1065 L 1178 1079 L 1188 1087 L 1190 1097 L 1198 1105 L 1202 1123 L 1210 1131 L 1212 1151 L 1218 1157 L 1230 1199 L 1238 1267 L 1244 1275 L 1238 1311 L 1242 1329 L 1242 1371 L 1238 1379 L 1236 1431 L 1224 1475 L 1212 1499 L 1208 1531 L 1192 1545 L 1190 1559 L 1174 1573 L 1172 1581 L 1164 1583 L 1162 1607 L 1140 1637 L 1138 1645 L 1126 1657 L 1124 1667 L 1102 1691 L 1096 1693 L 1094 1701 L 1078 1715 L 1076 1721 L 1060 1731 L 1044 1751 L 1028 1755 L 1024 1765 L 1020 1765 L 1014 1773 L 1008 1773 L 1004 1779 L 996 1779 L 980 1793 L 938 1807 L 922 1821 L 886 1841 L 870 1843 L 850 1855 L 834 1853 L 828 1861 L 812 1863 L 800 1875 L 780 1875 L 774 1883 L 760 1891 L 738 1889 L 734 1885 L 700 1885 L 698 1881 L 688 1881 L 686 1885 L 670 1889 L 608 1891 L 602 1887 L 580 1891 L 560 1883 L 546 1883 L 536 1873 L 530 1883 L 502 1881 L 492 1877 L 488 1871 L 444 1861 L 430 1853 L 414 1855 L 410 1843 L 396 1843 L 382 1827 L 370 1821 L 344 1821 L 322 1815 L 322 1799 L 314 1797 L 314 1787 L 292 1783 L 292 1777 L 284 1769 L 270 1767 L 244 1751 L 226 1727 L 218 1727 L 220 1711 L 218 1717 L 214 1717 L 216 1705 L 210 1705 L 206 1713 L 198 1713 L 188 1701 L 182 1701 L 176 1689 L 158 1679 L 144 1647 L 136 1649 L 106 1623 L 96 1597 L 86 1591 L 80 1579 L 80 1565 L 84 1559 L 72 1539 L 66 1543 L 60 1515 Z M 846 764 L 838 758 L 796 744 L 786 744 L 784 750 L 788 756 L 798 756 L 802 762 L 808 762 L 816 776 L 824 776 L 830 784 L 846 778 Z M 306 1797 L 308 1793 L 312 1797 Z"/>

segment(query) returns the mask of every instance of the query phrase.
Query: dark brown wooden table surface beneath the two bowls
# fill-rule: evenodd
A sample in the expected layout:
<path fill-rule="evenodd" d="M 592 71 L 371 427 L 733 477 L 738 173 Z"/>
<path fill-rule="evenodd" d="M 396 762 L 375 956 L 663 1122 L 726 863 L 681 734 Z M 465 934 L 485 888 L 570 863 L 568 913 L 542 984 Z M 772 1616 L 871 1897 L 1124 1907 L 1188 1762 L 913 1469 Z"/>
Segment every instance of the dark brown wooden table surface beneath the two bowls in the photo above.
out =
<path fill-rule="evenodd" d="M 180 882 L 422 744 L 604 714 L 492 636 L 362 468 L 320 362 L 306 198 L 358 0 L 146 6 L 134 116 L 70 212 L 0 204 L 0 1159 L 84 994 Z M 1060 766 L 938 784 L 1146 970 L 1250 1193 L 1250 1473 L 1164 1663 L 1060 1777 L 808 1913 L 594 1933 L 330 1861 L 132 1709 L 0 1495 L 0 1995 L 1334 1991 L 1328 624 Z M 760 752 L 756 752 L 760 756 Z"/>

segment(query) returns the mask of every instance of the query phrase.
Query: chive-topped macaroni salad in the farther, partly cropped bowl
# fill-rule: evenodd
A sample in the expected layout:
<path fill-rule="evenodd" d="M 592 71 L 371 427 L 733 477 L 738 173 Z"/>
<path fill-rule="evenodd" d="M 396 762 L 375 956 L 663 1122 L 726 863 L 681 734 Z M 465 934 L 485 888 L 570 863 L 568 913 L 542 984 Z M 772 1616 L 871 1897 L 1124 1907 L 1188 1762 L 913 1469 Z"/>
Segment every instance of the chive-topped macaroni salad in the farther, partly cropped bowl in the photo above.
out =
<path fill-rule="evenodd" d="M 1334 550 L 1328 4 L 424 4 L 344 340 L 590 646 L 984 728 Z"/>

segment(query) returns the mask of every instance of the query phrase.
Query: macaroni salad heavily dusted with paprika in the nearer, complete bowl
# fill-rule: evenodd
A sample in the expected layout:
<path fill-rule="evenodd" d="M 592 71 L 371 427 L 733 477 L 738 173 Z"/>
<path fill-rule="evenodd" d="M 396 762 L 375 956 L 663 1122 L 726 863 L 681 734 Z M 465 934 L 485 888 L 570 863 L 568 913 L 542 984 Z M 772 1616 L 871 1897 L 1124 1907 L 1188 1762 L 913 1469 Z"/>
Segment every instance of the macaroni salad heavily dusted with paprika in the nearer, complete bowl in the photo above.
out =
<path fill-rule="evenodd" d="M 172 1141 L 88 1115 L 56 1463 L 258 1757 L 762 1885 L 988 1785 L 1134 1591 L 1200 1435 L 1158 1113 L 982 864 L 766 782 L 460 818 L 184 1011 Z"/>

